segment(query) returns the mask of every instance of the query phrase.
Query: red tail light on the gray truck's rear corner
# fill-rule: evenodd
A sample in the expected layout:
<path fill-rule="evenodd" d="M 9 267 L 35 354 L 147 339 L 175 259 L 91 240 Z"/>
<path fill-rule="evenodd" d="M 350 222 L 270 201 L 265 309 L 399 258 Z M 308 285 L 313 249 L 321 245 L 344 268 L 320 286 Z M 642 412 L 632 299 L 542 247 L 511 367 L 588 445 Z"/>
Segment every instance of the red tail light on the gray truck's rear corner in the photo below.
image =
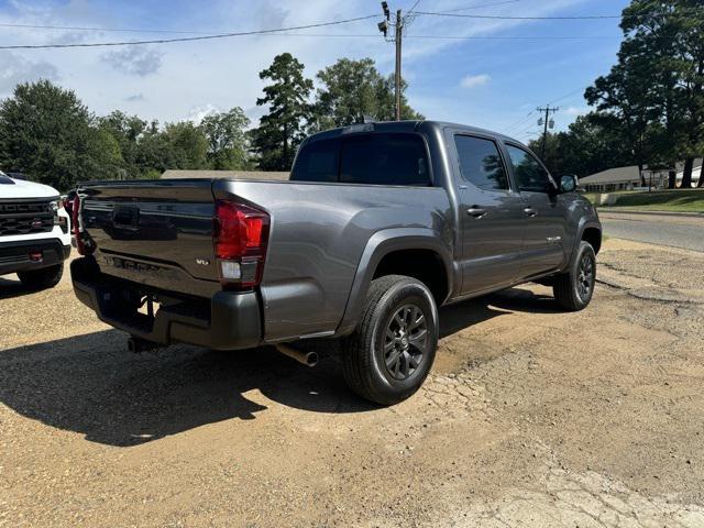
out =
<path fill-rule="evenodd" d="M 251 289 L 262 282 L 270 216 L 243 204 L 216 201 L 215 254 L 223 286 Z"/>

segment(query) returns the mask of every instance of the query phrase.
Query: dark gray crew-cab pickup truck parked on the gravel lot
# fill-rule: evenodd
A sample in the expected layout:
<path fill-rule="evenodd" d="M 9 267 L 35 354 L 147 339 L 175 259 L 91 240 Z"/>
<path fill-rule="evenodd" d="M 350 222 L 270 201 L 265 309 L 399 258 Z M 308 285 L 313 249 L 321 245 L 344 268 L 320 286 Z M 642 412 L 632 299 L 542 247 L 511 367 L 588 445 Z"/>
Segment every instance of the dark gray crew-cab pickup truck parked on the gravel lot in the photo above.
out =
<path fill-rule="evenodd" d="M 580 310 L 602 240 L 573 176 L 556 183 L 509 138 L 432 121 L 312 135 L 289 182 L 77 194 L 74 289 L 132 349 L 272 344 L 310 364 L 310 340 L 340 338 L 345 381 L 383 405 L 428 375 L 438 306 L 540 282 Z"/>

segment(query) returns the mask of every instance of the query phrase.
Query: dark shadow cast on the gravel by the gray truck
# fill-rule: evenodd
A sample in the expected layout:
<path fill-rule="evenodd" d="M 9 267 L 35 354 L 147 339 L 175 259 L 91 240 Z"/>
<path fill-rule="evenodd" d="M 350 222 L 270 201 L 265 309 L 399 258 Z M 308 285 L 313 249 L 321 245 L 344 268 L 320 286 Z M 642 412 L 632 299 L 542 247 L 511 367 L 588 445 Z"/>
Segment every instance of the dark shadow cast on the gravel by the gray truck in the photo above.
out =
<path fill-rule="evenodd" d="M 490 302 L 502 307 L 490 308 Z M 540 310 L 541 304 L 541 298 L 505 293 L 446 307 L 442 333 L 512 310 Z M 0 403 L 116 447 L 232 418 L 251 420 L 267 409 L 257 403 L 265 399 L 316 413 L 378 408 L 346 388 L 337 354 L 308 369 L 272 348 L 215 352 L 175 345 L 138 355 L 127 352 L 125 339 L 123 332 L 105 330 L 0 351 Z"/>

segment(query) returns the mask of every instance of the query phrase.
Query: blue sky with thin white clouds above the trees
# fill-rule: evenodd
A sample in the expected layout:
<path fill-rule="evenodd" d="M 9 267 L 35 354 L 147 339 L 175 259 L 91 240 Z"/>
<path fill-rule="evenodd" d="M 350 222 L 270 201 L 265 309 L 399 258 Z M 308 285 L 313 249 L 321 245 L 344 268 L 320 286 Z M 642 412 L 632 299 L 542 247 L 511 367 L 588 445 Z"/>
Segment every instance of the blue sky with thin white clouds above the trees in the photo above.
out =
<path fill-rule="evenodd" d="M 407 11 L 415 0 L 389 1 Z M 418 11 L 486 15 L 619 14 L 627 0 L 420 0 Z M 464 9 L 469 8 L 469 9 Z M 367 0 L 0 1 L 0 45 L 90 43 L 189 36 L 327 22 L 381 12 Z M 381 16 L 380 16 L 381 20 Z M 377 20 L 305 30 L 296 35 L 233 37 L 111 48 L 0 51 L 0 97 L 19 81 L 47 77 L 73 88 L 98 114 L 113 109 L 160 121 L 198 120 L 242 107 L 254 120 L 257 73 L 290 52 L 309 77 L 342 56 L 372 57 L 394 69 L 394 45 Z M 6 24 L 6 25 L 1 25 Z M 7 24 L 77 29 L 16 28 Z M 117 32 L 114 29 L 139 30 Z M 452 36 L 459 38 L 425 38 Z M 496 37 L 531 37 L 497 40 Z M 620 42 L 618 20 L 517 21 L 418 14 L 404 40 L 404 76 L 414 108 L 527 141 L 538 131 L 537 106 L 556 102 L 558 129 L 586 107 L 582 98 L 608 72 Z M 532 112 L 532 113 L 531 113 Z M 534 135 L 531 135 L 534 134 Z"/>

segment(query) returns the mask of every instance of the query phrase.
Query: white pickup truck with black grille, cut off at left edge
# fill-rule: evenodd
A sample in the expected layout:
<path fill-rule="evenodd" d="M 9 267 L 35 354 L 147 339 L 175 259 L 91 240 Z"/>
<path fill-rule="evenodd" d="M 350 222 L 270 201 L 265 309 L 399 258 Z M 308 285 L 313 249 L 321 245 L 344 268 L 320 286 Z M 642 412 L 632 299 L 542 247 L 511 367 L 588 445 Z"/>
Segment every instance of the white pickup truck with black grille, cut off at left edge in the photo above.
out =
<path fill-rule="evenodd" d="M 0 275 L 26 287 L 51 288 L 70 254 L 70 220 L 58 191 L 0 172 Z"/>

